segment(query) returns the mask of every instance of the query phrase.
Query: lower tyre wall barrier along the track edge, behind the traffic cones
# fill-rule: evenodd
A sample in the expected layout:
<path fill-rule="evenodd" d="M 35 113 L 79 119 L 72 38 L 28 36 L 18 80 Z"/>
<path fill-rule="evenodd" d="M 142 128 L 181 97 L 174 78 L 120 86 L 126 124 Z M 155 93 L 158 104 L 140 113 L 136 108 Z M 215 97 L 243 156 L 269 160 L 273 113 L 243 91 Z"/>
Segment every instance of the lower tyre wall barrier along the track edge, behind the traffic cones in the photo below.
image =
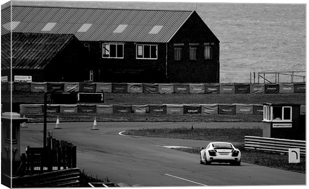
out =
<path fill-rule="evenodd" d="M 303 106 L 306 109 L 306 106 Z M 96 105 L 96 104 L 52 104 L 47 112 L 62 114 L 230 114 L 263 115 L 263 105 L 258 104 L 159 104 L 159 105 Z M 303 111 L 304 112 L 304 111 Z M 21 104 L 19 113 L 43 113 L 43 104 Z"/>

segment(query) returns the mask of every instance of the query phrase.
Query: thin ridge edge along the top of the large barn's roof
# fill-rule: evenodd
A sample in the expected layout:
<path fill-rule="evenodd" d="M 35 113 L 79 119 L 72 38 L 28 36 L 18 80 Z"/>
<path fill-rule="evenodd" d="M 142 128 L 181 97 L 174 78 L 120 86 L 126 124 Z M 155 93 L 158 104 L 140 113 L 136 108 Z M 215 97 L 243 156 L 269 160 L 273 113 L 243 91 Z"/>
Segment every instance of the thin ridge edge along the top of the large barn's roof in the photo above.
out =
<path fill-rule="evenodd" d="M 102 7 L 80 7 L 80 6 L 74 6 L 74 7 L 70 7 L 70 6 L 48 6 L 48 5 L 20 5 L 20 4 L 15 4 L 12 6 L 24 6 L 24 7 L 42 7 L 42 8 L 78 8 L 78 9 L 111 9 L 111 10 L 149 10 L 149 11 L 177 11 L 177 12 L 193 12 L 194 10 L 173 10 L 173 9 L 145 9 L 145 8 L 102 8 Z M 9 6 L 8 6 L 9 7 Z M 8 8 L 6 7 L 6 8 Z M 5 8 L 4 8 L 5 9 Z"/>

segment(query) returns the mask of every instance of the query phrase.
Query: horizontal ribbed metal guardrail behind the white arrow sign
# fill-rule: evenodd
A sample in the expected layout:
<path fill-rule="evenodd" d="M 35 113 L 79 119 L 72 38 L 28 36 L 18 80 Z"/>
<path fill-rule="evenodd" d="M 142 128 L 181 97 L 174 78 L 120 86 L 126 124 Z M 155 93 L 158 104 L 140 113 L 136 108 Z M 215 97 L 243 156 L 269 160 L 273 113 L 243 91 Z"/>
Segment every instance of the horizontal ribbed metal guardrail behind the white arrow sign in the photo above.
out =
<path fill-rule="evenodd" d="M 304 140 L 245 136 L 245 149 L 289 153 L 289 148 L 300 148 L 301 155 L 306 156 Z"/>

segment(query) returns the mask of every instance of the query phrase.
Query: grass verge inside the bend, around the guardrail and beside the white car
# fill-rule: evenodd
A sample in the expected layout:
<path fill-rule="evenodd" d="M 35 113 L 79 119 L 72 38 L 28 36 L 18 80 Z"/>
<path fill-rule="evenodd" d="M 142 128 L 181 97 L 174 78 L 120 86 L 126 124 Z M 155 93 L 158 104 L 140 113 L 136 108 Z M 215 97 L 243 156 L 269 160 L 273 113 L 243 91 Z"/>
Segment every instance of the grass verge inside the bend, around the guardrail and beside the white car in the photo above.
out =
<path fill-rule="evenodd" d="M 138 130 L 127 130 L 124 134 L 163 137 L 163 138 L 179 138 L 179 139 L 195 139 L 208 141 L 228 141 L 232 142 L 242 153 L 242 162 L 272 167 L 298 173 L 306 173 L 306 158 L 301 157 L 301 163 L 290 164 L 289 156 L 286 153 L 273 153 L 264 151 L 245 150 L 244 136 L 262 136 L 261 128 L 148 128 Z M 199 148 L 174 148 L 188 153 L 199 154 Z M 198 158 L 197 160 L 198 161 Z"/>

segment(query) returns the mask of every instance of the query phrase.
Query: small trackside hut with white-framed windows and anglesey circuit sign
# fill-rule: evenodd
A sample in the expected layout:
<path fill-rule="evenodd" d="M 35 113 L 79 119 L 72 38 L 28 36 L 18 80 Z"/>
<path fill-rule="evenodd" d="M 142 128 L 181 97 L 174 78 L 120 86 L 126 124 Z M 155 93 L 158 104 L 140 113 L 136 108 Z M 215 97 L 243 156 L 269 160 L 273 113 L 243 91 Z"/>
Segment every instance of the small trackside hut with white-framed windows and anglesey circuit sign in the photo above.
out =
<path fill-rule="evenodd" d="M 263 104 L 263 137 L 304 140 L 306 124 L 300 104 Z"/>

